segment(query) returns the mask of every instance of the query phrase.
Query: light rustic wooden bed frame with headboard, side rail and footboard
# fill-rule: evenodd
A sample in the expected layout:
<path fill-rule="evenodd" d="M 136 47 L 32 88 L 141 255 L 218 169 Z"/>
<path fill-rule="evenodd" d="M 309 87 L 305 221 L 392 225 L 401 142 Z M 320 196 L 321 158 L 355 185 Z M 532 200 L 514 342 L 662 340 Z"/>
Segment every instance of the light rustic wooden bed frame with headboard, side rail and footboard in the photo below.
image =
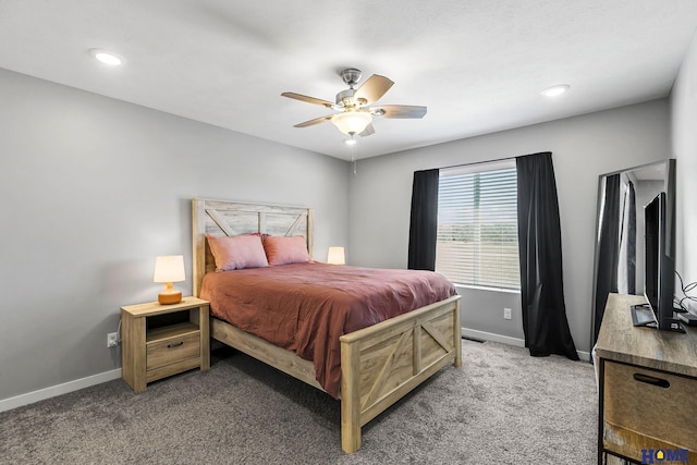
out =
<path fill-rule="evenodd" d="M 215 269 L 206 234 L 252 232 L 304 235 L 313 254 L 313 210 L 307 208 L 192 200 L 194 295 Z M 313 363 L 218 318 L 211 336 L 317 389 Z M 360 427 L 384 412 L 445 365 L 462 364 L 460 296 L 418 308 L 344 334 L 341 341 L 341 442 L 346 453 L 360 448 Z"/>

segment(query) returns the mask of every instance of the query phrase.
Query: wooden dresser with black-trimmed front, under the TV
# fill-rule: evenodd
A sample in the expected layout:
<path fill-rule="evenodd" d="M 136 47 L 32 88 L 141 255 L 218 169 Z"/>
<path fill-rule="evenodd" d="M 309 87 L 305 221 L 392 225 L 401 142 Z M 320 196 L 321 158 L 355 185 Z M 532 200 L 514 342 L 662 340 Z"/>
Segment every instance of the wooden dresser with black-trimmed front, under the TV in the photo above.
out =
<path fill-rule="evenodd" d="M 631 306 L 610 294 L 595 347 L 599 387 L 598 463 L 697 464 L 697 329 L 635 328 Z"/>

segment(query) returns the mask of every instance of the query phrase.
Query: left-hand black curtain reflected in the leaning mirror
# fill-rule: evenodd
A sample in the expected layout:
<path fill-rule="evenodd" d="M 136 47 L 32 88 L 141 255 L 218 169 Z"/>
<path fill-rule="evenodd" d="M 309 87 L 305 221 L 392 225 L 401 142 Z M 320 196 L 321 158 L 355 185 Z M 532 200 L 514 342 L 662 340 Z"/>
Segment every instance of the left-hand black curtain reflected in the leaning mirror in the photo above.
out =
<path fill-rule="evenodd" d="M 636 221 L 636 220 L 635 220 Z M 620 174 L 606 176 L 602 211 L 598 231 L 596 257 L 596 310 L 594 311 L 592 345 L 596 344 L 606 311 L 608 294 L 617 292 L 620 261 Z"/>

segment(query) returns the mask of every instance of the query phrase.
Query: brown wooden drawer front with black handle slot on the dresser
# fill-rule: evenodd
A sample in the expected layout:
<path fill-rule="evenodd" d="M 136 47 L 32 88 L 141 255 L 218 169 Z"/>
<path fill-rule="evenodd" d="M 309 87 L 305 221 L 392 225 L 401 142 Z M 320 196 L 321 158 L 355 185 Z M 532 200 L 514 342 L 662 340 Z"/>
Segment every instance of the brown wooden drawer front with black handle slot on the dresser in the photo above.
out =
<path fill-rule="evenodd" d="M 678 448 L 697 458 L 695 392 L 697 379 L 606 362 L 604 445 L 626 448 L 625 455 L 635 460 L 643 449 Z M 671 442 L 652 439 L 667 431 Z"/>

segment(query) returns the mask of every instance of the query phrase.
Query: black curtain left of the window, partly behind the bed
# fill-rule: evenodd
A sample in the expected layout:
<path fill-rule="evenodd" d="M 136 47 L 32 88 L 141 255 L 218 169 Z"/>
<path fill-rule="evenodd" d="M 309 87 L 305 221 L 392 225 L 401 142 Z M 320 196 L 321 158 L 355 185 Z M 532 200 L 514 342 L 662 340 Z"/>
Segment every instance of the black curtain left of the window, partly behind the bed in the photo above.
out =
<path fill-rule="evenodd" d="M 436 270 L 438 178 L 438 169 L 414 172 L 407 264 L 411 270 Z"/>

